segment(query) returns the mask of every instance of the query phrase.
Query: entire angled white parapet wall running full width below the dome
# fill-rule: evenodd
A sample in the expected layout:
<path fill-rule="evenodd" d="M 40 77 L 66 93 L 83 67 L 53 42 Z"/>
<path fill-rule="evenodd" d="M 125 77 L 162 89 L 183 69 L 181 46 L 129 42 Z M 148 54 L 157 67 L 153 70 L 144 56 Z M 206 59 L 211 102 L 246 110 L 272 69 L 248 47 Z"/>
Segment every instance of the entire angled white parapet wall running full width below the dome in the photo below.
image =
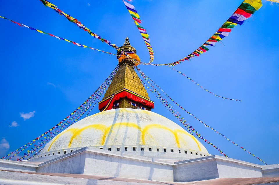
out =
<path fill-rule="evenodd" d="M 153 151 L 151 153 L 156 154 Z M 162 153 L 164 154 L 164 152 Z M 179 153 L 169 154 L 179 155 Z M 261 166 L 223 156 L 203 156 L 176 162 L 132 155 L 125 151 L 108 151 L 91 147 L 56 156 L 57 158 L 39 165 L 30 164 L 31 160 L 30 163 L 0 160 L 0 169 L 88 174 L 166 182 L 189 182 L 215 178 L 279 177 L 278 164 Z"/>

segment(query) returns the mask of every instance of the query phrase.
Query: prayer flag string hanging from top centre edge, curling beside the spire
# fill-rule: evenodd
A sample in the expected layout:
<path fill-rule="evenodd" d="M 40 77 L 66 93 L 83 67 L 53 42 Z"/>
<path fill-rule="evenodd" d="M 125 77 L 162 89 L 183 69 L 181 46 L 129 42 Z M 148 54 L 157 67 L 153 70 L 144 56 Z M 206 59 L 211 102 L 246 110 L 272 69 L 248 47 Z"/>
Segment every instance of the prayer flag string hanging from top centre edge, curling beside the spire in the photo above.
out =
<path fill-rule="evenodd" d="M 151 62 L 154 59 L 154 51 L 153 51 L 152 46 L 150 45 L 150 39 L 149 39 L 149 35 L 146 32 L 146 29 L 144 29 L 142 26 L 140 26 L 140 24 L 142 23 L 142 20 L 140 19 L 140 15 L 137 14 L 137 10 L 135 10 L 135 7 L 133 5 L 131 5 L 130 3 L 127 3 L 124 0 L 123 0 L 123 2 L 125 4 L 126 8 L 128 9 L 128 12 L 132 16 L 132 19 L 134 20 L 134 22 L 137 26 L 137 29 L 140 31 L 140 34 L 144 40 L 144 43 L 147 47 L 148 52 L 149 52 L 150 61 L 147 64 L 151 64 Z"/>

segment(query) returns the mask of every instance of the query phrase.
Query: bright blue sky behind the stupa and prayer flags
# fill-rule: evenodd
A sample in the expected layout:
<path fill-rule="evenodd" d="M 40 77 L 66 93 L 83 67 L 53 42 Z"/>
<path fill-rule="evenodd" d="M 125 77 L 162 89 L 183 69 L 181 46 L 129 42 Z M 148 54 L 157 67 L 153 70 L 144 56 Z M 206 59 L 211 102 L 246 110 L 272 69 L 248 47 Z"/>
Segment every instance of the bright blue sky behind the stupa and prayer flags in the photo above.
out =
<path fill-rule="evenodd" d="M 121 0 L 51 2 L 118 46 L 128 36 L 141 60 L 149 61 L 145 44 Z M 240 3 L 242 0 L 132 1 L 150 35 L 157 64 L 174 62 L 193 52 Z M 242 102 L 215 97 L 167 66 L 139 66 L 186 110 L 268 164 L 279 163 L 278 10 L 275 4 L 263 1 L 253 17 L 223 39 L 224 45 L 217 43 L 206 54 L 175 67 L 213 93 Z M 0 16 L 27 26 L 116 53 L 39 0 L 0 1 L 0 12 Z M 7 20 L 1 19 L 0 24 L 3 155 L 33 140 L 81 105 L 115 68 L 117 59 Z M 155 101 L 152 111 L 180 124 L 153 94 L 149 96 Z M 97 112 L 96 107 L 92 114 Z M 229 157 L 263 165 L 192 116 L 180 114 Z M 205 147 L 210 154 L 219 155 L 212 146 Z"/>

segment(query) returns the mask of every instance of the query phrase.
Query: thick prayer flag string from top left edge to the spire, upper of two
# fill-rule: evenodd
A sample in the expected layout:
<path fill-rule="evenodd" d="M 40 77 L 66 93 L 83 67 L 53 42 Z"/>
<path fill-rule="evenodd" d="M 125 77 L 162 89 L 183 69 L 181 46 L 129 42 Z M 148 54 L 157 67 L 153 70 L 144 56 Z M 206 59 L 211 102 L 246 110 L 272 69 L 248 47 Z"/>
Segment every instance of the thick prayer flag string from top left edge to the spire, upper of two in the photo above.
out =
<path fill-rule="evenodd" d="M 64 17 L 67 18 L 67 20 L 69 20 L 70 22 L 73 22 L 74 24 L 76 24 L 79 28 L 83 29 L 84 31 L 86 31 L 87 33 L 89 33 L 91 36 L 93 36 L 94 38 L 97 38 L 99 40 L 101 40 L 103 43 L 105 42 L 106 44 L 110 45 L 111 47 L 115 48 L 117 51 L 121 52 L 122 54 L 125 54 L 125 56 L 134 61 L 135 63 L 139 63 L 137 60 L 131 58 L 126 52 L 122 51 L 117 45 L 112 44 L 109 40 L 106 40 L 104 38 L 102 38 L 101 36 L 99 36 L 98 34 L 92 32 L 90 29 L 88 29 L 87 27 L 85 27 L 83 24 L 81 24 L 80 21 L 78 21 L 77 19 L 75 19 L 74 17 L 64 13 L 62 10 L 58 9 L 57 6 L 55 6 L 54 4 L 50 3 L 47 0 L 40 0 L 44 6 L 52 8 L 53 10 L 55 10 L 59 15 L 63 15 Z"/>

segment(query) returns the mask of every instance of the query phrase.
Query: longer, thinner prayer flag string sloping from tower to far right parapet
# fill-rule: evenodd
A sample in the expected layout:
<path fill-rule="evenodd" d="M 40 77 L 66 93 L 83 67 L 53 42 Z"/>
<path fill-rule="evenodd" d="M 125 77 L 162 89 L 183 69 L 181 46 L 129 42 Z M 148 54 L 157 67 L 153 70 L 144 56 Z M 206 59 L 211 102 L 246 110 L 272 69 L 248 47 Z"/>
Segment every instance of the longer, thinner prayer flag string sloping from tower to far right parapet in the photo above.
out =
<path fill-rule="evenodd" d="M 137 68 L 137 67 L 136 67 Z M 188 112 L 187 110 L 185 110 L 181 105 L 179 105 L 178 103 L 176 103 L 169 95 L 167 95 L 157 84 L 155 84 L 155 82 L 153 82 L 153 80 L 151 80 L 148 76 L 146 76 L 142 71 L 140 71 L 139 68 L 137 68 L 137 70 L 139 71 L 139 73 L 141 75 L 143 75 L 143 78 L 147 78 L 149 79 L 154 85 L 156 85 L 171 101 L 173 101 L 178 107 L 180 107 L 182 110 L 184 110 L 185 112 L 187 112 L 188 114 L 190 114 L 191 116 L 193 116 L 195 119 L 197 119 L 199 122 L 201 122 L 205 127 L 209 127 L 211 128 L 213 131 L 215 131 L 216 133 L 218 133 L 219 135 L 223 136 L 224 138 L 226 138 L 227 140 L 229 140 L 230 142 L 232 142 L 234 145 L 238 146 L 239 148 L 243 149 L 244 151 L 248 152 L 249 154 L 251 154 L 252 156 L 256 157 L 254 154 L 250 153 L 249 151 L 247 151 L 246 149 L 244 149 L 243 147 L 240 147 L 239 145 L 237 145 L 235 142 L 233 142 L 232 140 L 228 139 L 225 135 L 217 132 L 214 128 L 210 127 L 209 125 L 205 124 L 203 121 L 201 121 L 200 119 L 198 119 L 196 116 L 194 116 L 194 114 L 191 114 L 190 112 Z M 262 161 L 262 159 L 256 157 L 257 159 L 259 159 L 260 161 Z M 262 161 L 263 163 L 265 163 L 264 161 Z M 267 165 L 267 163 L 265 163 Z"/>

